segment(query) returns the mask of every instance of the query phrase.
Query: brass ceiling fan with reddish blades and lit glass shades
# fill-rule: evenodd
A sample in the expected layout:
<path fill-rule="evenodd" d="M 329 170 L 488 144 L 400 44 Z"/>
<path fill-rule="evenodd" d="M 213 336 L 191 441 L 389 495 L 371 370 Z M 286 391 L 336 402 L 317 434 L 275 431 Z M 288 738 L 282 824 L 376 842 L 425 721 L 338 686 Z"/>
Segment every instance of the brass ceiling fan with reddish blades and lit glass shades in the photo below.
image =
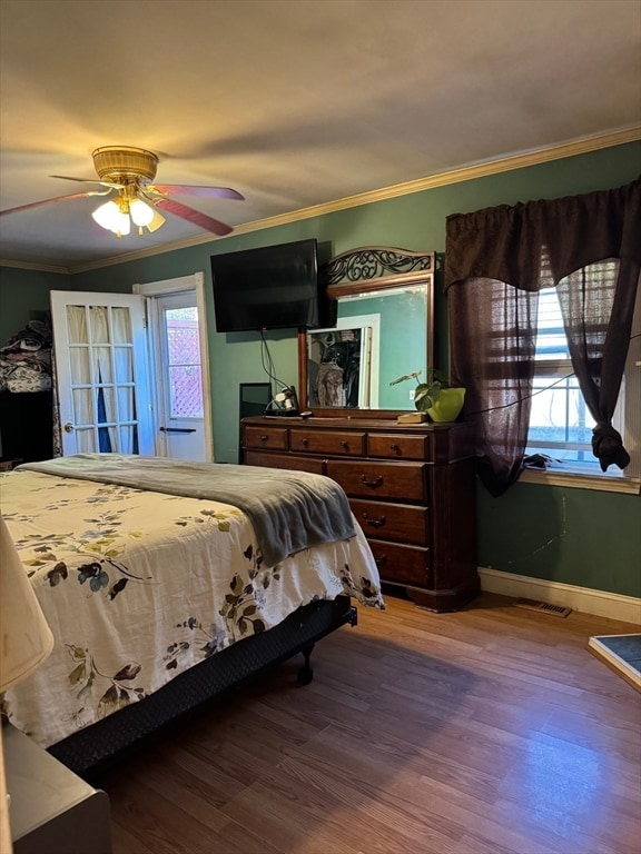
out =
<path fill-rule="evenodd" d="M 89 190 L 88 192 L 75 192 L 70 196 L 58 196 L 53 199 L 32 201 L 30 205 L 21 205 L 0 211 L 0 216 L 16 214 L 20 210 L 29 210 L 41 205 L 50 205 L 59 201 L 70 201 L 89 196 L 111 197 L 100 205 L 91 215 L 102 228 L 114 231 L 118 237 L 128 235 L 131 222 L 138 228 L 156 231 L 166 222 L 160 210 L 174 214 L 188 222 L 211 231 L 215 235 L 228 235 L 231 226 L 220 222 L 218 219 L 201 214 L 199 210 L 187 207 L 176 201 L 170 196 L 201 196 L 217 199 L 244 199 L 236 190 L 228 187 L 198 187 L 184 183 L 152 183 L 158 167 L 158 157 L 152 151 L 130 146 L 105 146 L 97 148 L 92 153 L 93 167 L 98 173 L 98 180 L 90 178 L 71 178 L 67 175 L 51 175 L 50 178 L 61 178 L 65 181 L 81 181 L 83 183 L 98 183 L 107 187 L 106 190 Z M 114 195 L 115 193 L 115 195 Z"/>

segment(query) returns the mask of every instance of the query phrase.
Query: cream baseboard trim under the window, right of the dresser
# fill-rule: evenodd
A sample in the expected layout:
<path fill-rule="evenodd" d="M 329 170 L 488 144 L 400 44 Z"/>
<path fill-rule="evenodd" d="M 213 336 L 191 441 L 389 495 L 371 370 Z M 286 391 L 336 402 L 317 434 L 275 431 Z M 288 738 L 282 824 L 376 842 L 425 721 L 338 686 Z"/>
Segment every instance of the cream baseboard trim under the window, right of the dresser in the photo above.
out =
<path fill-rule="evenodd" d="M 593 590 L 589 587 L 575 587 L 572 584 L 546 582 L 543 578 L 530 578 L 526 575 L 502 573 L 499 569 L 479 567 L 481 589 L 499 593 L 503 596 L 523 596 L 529 599 L 553 605 L 564 605 L 584 614 L 620 619 L 623 623 L 641 625 L 641 599 L 622 596 L 607 590 Z"/>

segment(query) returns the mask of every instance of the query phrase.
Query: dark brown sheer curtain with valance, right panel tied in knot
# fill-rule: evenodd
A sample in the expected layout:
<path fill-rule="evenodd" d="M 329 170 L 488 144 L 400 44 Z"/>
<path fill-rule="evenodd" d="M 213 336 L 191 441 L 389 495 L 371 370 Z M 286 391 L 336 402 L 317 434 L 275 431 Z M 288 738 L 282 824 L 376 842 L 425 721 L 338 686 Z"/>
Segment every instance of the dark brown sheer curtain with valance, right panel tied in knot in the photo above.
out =
<path fill-rule="evenodd" d="M 617 259 L 608 282 L 590 265 Z M 477 421 L 492 495 L 516 480 L 530 421 L 539 290 L 556 286 L 601 468 L 630 458 L 612 427 L 641 269 L 641 179 L 613 190 L 447 218 L 451 374 Z"/>

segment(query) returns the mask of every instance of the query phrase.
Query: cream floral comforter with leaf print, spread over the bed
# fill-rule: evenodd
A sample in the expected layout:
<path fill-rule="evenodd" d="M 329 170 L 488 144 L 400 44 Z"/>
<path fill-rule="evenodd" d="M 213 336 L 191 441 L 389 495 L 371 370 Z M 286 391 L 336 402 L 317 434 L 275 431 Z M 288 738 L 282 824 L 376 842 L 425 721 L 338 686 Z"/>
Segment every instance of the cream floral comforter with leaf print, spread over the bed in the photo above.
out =
<path fill-rule="evenodd" d="M 0 493 L 56 637 L 4 712 L 43 747 L 313 599 L 384 607 L 357 525 L 348 540 L 267 566 L 228 504 L 29 470 L 0 475 Z"/>

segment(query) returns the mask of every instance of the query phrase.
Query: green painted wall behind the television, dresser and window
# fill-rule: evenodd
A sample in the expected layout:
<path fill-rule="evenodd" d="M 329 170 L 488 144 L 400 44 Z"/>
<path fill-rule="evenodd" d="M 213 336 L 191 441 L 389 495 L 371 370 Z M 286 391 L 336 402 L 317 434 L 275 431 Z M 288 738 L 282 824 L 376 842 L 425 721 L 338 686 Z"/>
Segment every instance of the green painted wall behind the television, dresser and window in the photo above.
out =
<path fill-rule="evenodd" d="M 641 142 L 631 142 L 248 235 L 231 235 L 209 244 L 77 274 L 70 281 L 76 290 L 130 291 L 135 282 L 203 270 L 210 282 L 209 256 L 214 252 L 306 237 L 316 237 L 322 249 L 332 255 L 367 245 L 443 254 L 445 218 L 451 214 L 608 189 L 633 180 L 640 172 Z M 39 288 L 46 287 L 43 280 L 38 281 Z M 436 285 L 435 363 L 446 365 L 447 308 L 440 274 Z M 42 296 L 39 288 L 33 292 L 34 299 L 39 300 L 38 308 Z M 4 301 L 4 285 L 0 288 L 0 297 Z M 22 295 L 20 305 L 24 305 Z M 238 384 L 265 381 L 260 347 L 257 335 L 218 335 L 214 331 L 209 286 L 207 312 L 210 318 L 216 459 L 235 461 Z M 295 337 L 274 332 L 267 340 L 278 378 L 297 385 Z M 623 595 L 641 595 L 640 496 L 516 484 L 501 498 L 492 498 L 479 486 L 477 507 L 479 566 Z"/>

